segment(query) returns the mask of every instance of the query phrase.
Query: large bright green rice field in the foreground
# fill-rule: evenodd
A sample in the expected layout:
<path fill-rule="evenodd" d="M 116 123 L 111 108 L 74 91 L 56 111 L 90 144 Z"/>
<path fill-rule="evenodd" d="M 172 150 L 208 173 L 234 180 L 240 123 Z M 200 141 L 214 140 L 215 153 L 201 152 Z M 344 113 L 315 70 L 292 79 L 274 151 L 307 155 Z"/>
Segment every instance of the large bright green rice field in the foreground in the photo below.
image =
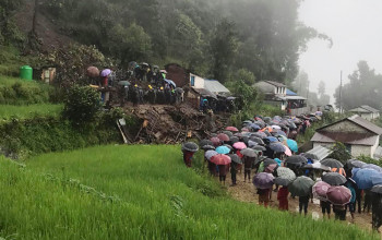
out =
<path fill-rule="evenodd" d="M 103 146 L 0 160 L 0 236 L 14 239 L 378 239 L 265 209 L 187 169 L 179 146 Z"/>

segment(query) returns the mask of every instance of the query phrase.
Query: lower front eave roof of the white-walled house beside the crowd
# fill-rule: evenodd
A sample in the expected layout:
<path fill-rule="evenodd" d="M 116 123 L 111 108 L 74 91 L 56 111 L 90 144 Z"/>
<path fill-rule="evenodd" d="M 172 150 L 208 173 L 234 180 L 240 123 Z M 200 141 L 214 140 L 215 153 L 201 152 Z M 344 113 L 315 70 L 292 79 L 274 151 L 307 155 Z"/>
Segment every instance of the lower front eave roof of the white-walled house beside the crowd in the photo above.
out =
<path fill-rule="evenodd" d="M 378 135 L 370 135 L 365 133 L 330 133 L 330 132 L 315 132 L 312 142 L 319 143 L 346 143 L 350 145 L 366 145 L 373 146 L 377 143 Z"/>

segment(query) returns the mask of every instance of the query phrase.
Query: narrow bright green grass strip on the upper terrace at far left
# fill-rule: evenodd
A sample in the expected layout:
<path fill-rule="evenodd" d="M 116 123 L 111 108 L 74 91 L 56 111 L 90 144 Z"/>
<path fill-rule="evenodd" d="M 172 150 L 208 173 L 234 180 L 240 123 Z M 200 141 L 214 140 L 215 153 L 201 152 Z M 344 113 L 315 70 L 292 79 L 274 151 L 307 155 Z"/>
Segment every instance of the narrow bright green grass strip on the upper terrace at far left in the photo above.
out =
<path fill-rule="evenodd" d="M 58 117 L 62 108 L 62 105 L 53 104 L 36 104 L 28 106 L 0 105 L 0 119 L 27 119 L 36 115 Z"/>

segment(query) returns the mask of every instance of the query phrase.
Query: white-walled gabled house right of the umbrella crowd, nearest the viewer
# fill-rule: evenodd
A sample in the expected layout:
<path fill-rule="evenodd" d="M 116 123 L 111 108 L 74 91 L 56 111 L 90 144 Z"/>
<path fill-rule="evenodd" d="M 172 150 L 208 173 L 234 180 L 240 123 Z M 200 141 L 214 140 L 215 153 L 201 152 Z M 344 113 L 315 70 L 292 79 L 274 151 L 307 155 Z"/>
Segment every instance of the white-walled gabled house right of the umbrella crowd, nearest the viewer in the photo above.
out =
<path fill-rule="evenodd" d="M 374 157 L 382 129 L 355 115 L 318 129 L 311 139 L 313 147 L 331 147 L 336 142 L 345 144 L 351 156 Z"/>

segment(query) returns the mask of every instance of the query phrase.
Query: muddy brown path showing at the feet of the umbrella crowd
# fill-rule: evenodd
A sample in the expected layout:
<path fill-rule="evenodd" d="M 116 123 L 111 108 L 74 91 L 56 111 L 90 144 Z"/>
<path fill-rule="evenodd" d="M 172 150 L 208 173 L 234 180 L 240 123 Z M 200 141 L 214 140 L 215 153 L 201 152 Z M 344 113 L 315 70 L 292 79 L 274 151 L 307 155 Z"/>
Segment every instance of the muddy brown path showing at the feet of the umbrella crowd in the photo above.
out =
<path fill-rule="evenodd" d="M 251 176 L 253 177 L 253 175 Z M 248 202 L 248 203 L 255 203 L 258 204 L 258 194 L 254 185 L 252 182 L 244 182 L 243 173 L 238 172 L 237 175 L 237 185 L 230 187 L 231 180 L 230 175 L 227 175 L 226 180 L 226 187 L 227 191 L 232 195 L 236 200 L 241 202 Z M 289 202 L 289 212 L 290 213 L 297 213 L 298 214 L 298 197 L 291 199 L 290 195 L 288 197 Z M 272 200 L 270 202 L 271 207 L 278 208 L 278 201 L 277 201 L 277 192 L 272 192 Z M 320 201 L 314 200 L 313 204 L 309 203 L 308 207 L 308 216 L 312 217 L 313 219 L 320 219 L 322 218 L 321 207 L 320 207 Z M 331 217 L 334 218 L 334 214 L 331 214 Z M 351 224 L 351 216 L 349 213 L 346 215 L 346 221 L 345 224 L 350 225 Z M 368 229 L 371 231 L 371 213 L 361 213 L 355 214 L 355 221 L 357 226 Z M 382 239 L 382 233 L 381 233 Z"/>

